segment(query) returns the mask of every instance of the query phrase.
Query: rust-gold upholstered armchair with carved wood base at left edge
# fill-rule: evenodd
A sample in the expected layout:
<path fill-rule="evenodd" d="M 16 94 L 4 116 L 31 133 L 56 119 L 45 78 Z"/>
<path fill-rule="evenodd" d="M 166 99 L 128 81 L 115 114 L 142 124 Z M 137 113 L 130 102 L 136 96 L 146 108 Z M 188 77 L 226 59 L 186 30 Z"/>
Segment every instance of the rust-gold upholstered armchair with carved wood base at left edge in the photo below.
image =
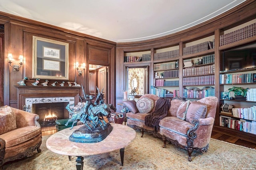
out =
<path fill-rule="evenodd" d="M 10 106 L 0 107 L 0 169 L 5 162 L 41 152 L 39 116 Z"/>

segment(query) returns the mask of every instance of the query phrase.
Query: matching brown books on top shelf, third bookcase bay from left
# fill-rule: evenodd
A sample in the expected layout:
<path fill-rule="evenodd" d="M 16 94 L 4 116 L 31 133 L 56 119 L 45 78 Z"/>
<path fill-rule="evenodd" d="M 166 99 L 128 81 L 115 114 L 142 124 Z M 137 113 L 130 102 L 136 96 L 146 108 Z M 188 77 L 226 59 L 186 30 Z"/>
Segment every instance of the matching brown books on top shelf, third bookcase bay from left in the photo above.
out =
<path fill-rule="evenodd" d="M 183 48 L 183 55 L 193 54 L 193 53 L 199 53 L 201 51 L 206 51 L 208 49 L 212 49 L 212 42 L 203 42 L 196 45 L 192 45 L 189 47 Z"/>

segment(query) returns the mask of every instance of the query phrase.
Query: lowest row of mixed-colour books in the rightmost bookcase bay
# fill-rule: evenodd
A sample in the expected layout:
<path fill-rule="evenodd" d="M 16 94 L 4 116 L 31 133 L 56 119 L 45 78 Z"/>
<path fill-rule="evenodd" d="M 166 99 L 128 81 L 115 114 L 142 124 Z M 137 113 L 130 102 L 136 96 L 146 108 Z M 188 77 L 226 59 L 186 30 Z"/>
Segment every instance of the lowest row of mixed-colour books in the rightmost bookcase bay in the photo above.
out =
<path fill-rule="evenodd" d="M 256 122 L 220 116 L 220 126 L 256 134 Z"/>

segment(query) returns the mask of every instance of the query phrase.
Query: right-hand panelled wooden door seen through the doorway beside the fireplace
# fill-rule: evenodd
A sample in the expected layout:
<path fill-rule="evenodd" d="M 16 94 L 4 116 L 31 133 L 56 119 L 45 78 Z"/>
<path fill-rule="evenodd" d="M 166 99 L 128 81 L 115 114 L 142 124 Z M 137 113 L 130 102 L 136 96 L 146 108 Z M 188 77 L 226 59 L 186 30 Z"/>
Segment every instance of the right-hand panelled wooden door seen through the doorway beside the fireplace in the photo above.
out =
<path fill-rule="evenodd" d="M 98 69 L 98 75 L 97 75 L 97 87 L 102 91 L 102 94 L 104 95 L 104 101 L 105 103 L 108 103 L 108 67 L 102 67 Z"/>

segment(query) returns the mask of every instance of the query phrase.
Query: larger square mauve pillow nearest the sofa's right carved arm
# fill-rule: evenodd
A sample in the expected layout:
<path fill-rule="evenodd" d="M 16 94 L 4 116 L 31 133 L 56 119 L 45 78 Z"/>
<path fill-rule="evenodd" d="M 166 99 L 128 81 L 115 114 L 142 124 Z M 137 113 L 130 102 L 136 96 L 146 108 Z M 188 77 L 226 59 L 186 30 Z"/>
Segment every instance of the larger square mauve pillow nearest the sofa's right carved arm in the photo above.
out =
<path fill-rule="evenodd" d="M 186 121 L 192 123 L 192 120 L 203 119 L 206 117 L 207 105 L 193 101 L 190 103 L 186 115 Z"/>

